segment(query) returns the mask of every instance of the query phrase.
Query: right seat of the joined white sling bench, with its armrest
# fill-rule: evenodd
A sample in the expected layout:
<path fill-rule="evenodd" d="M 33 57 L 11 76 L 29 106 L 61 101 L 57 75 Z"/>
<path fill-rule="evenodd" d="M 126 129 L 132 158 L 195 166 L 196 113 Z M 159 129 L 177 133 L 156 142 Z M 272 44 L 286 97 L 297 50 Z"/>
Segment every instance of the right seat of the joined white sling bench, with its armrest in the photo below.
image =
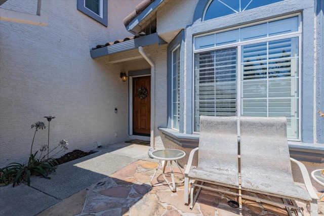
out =
<path fill-rule="evenodd" d="M 317 215 L 318 198 L 308 171 L 303 163 L 290 158 L 286 117 L 241 116 L 239 122 L 241 189 L 293 200 L 293 203 L 294 200 L 308 202 L 310 214 Z M 294 183 L 291 161 L 299 166 L 307 190 Z M 241 196 L 253 198 L 243 193 Z M 298 208 L 266 199 L 254 199 Z"/>

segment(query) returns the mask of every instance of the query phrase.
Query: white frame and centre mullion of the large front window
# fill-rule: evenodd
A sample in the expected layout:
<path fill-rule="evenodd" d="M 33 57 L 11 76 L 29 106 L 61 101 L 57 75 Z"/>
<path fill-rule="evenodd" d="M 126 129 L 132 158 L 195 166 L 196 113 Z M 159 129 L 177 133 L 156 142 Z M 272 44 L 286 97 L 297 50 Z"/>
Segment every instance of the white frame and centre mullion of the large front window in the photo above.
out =
<path fill-rule="evenodd" d="M 195 50 L 195 38 L 196 37 L 200 37 L 200 36 L 205 36 L 205 35 L 210 35 L 210 34 L 215 34 L 215 33 L 220 33 L 220 32 L 225 32 L 225 31 L 230 31 L 233 29 L 238 29 L 238 28 L 243 28 L 243 27 L 247 27 L 247 26 L 254 26 L 257 24 L 261 24 L 261 23 L 267 23 L 267 22 L 271 22 L 271 21 L 276 21 L 276 20 L 281 20 L 281 19 L 285 19 L 285 18 L 290 18 L 290 17 L 295 17 L 298 16 L 298 31 L 292 32 L 292 33 L 286 33 L 286 34 L 279 34 L 279 35 L 274 35 L 274 36 L 268 36 L 268 37 L 264 37 L 264 38 L 258 38 L 258 39 L 252 39 L 252 40 L 246 40 L 246 41 L 239 41 L 239 42 L 233 42 L 232 44 L 226 44 L 226 45 L 220 45 L 217 47 L 210 47 L 210 48 L 205 48 L 205 49 L 199 49 L 199 50 Z M 246 46 L 246 45 L 251 45 L 251 44 L 256 44 L 259 42 L 267 42 L 267 41 L 272 41 L 272 40 L 279 40 L 279 39 L 285 39 L 285 38 L 292 38 L 292 37 L 298 37 L 298 52 L 299 52 L 299 61 L 298 61 L 298 138 L 297 139 L 293 139 L 293 138 L 289 138 L 289 140 L 291 141 L 301 141 L 301 60 L 302 60 L 302 52 L 301 52 L 301 47 L 302 47 L 302 19 L 301 19 L 301 14 L 292 14 L 292 15 L 287 15 L 287 16 L 281 16 L 278 18 L 273 18 L 273 19 L 269 19 L 269 20 L 265 20 L 265 21 L 260 21 L 260 22 L 254 22 L 251 24 L 247 24 L 247 25 L 241 25 L 238 27 L 233 27 L 233 28 L 228 28 L 226 30 L 222 30 L 222 31 L 214 31 L 214 32 L 209 32 L 209 33 L 203 33 L 203 34 L 199 34 L 199 35 L 195 35 L 193 36 L 193 43 L 192 43 L 192 50 L 193 50 L 193 54 L 192 54 L 192 68 L 194 68 L 194 59 L 195 59 L 195 54 L 198 53 L 205 53 L 205 52 L 211 52 L 211 51 L 217 51 L 217 50 L 222 50 L 222 49 L 228 49 L 228 48 L 233 48 L 236 47 L 237 48 L 237 97 L 236 97 L 236 112 L 237 112 L 237 116 L 241 115 L 241 79 L 240 79 L 240 74 L 241 74 L 241 47 L 242 46 Z M 195 77 L 195 72 L 193 69 L 192 72 L 192 80 L 194 80 Z M 195 87 L 194 87 L 194 82 L 192 83 L 192 98 L 194 98 L 194 94 L 195 94 Z M 195 102 L 194 100 L 192 100 L 192 128 L 194 128 L 194 109 L 195 109 Z M 199 132 L 193 131 L 193 134 L 199 134 Z"/>

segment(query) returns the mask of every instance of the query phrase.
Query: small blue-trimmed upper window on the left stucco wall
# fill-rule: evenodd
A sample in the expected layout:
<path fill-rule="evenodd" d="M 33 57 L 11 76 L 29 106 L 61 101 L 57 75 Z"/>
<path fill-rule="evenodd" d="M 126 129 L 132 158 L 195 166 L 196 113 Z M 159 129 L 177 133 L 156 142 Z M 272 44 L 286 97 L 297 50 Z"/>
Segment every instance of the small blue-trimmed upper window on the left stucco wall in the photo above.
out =
<path fill-rule="evenodd" d="M 107 0 L 77 0 L 77 10 L 100 22 L 104 26 L 107 21 Z"/>

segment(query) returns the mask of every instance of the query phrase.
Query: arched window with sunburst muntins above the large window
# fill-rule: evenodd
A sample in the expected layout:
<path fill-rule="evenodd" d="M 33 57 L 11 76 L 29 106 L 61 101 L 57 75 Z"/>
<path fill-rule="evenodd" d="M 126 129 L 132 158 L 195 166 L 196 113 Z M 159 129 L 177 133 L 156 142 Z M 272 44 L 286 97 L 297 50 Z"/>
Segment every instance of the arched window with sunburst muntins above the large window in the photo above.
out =
<path fill-rule="evenodd" d="M 235 14 L 281 1 L 283 0 L 212 0 L 209 6 L 206 7 L 204 20 Z"/>

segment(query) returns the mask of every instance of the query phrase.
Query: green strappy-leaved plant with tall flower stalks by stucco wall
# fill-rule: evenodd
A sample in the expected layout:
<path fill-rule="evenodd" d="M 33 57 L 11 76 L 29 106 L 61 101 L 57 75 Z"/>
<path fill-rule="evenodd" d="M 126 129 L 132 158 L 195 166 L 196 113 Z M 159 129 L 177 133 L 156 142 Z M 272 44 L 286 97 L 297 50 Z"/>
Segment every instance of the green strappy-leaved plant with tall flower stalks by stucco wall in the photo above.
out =
<path fill-rule="evenodd" d="M 52 118 L 51 118 L 52 119 Z M 27 185 L 30 185 L 30 177 L 31 176 L 42 176 L 46 179 L 50 179 L 48 176 L 52 171 L 55 172 L 55 169 L 58 166 L 58 162 L 53 158 L 54 155 L 59 153 L 62 150 L 67 149 L 68 143 L 65 140 L 61 140 L 59 144 L 51 151 L 49 151 L 49 142 L 48 145 L 43 146 L 41 149 L 41 155 L 39 158 L 35 158 L 38 151 L 35 154 L 32 154 L 32 147 L 34 144 L 34 139 L 36 136 L 36 132 L 39 129 L 45 129 L 46 126 L 44 122 L 37 121 L 36 123 L 31 125 L 31 128 L 35 128 L 34 136 L 31 142 L 30 147 L 30 156 L 28 159 L 28 163 L 10 163 L 8 166 L 4 168 L 0 168 L 0 184 L 9 185 L 13 183 L 13 187 L 16 184 L 20 184 L 21 182 L 27 182 Z M 61 150 L 54 154 L 52 157 L 49 157 L 49 154 L 53 152 L 58 147 L 61 147 Z M 42 157 L 42 154 L 46 152 Z"/>

